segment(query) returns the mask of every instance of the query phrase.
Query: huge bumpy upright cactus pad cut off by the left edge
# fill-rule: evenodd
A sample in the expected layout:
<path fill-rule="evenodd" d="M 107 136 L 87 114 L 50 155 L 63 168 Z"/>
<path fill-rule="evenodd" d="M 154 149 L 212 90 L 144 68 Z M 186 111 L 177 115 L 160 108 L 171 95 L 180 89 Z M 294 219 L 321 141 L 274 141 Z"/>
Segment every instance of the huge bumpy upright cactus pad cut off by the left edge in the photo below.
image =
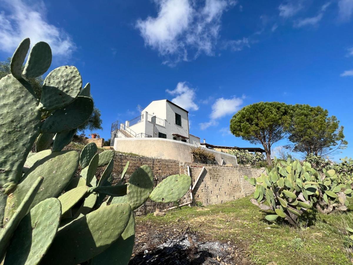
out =
<path fill-rule="evenodd" d="M 0 80 L 0 192 L 8 193 L 39 135 L 41 114 L 30 84 L 7 75 Z"/>

